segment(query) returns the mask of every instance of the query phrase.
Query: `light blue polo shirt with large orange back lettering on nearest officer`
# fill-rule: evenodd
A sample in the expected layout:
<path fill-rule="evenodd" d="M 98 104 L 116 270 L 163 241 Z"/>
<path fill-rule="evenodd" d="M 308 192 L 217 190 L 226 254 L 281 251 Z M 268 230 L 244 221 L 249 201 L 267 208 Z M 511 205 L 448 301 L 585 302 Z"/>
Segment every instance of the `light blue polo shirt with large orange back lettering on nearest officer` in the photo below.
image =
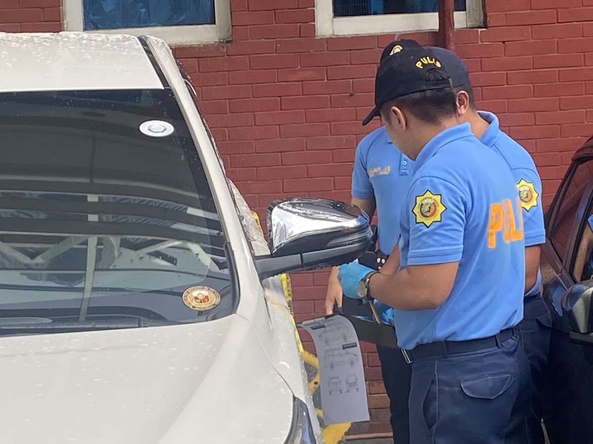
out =
<path fill-rule="evenodd" d="M 400 266 L 458 261 L 459 268 L 438 308 L 394 310 L 401 348 L 492 336 L 521 320 L 520 211 L 508 165 L 474 137 L 469 124 L 448 128 L 426 144 L 401 210 Z"/>

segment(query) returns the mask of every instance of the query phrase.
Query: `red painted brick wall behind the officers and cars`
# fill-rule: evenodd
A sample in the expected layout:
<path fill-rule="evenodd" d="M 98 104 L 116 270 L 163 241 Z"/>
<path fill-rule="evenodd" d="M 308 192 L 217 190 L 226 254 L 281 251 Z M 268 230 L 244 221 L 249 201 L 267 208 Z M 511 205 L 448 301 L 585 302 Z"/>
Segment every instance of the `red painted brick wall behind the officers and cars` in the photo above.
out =
<path fill-rule="evenodd" d="M 59 31 L 59 7 L 1 0 L 0 31 Z M 231 0 L 231 8 L 232 43 L 175 51 L 229 176 L 260 215 L 278 197 L 349 200 L 354 147 L 377 125 L 361 126 L 376 63 L 396 36 L 317 39 L 314 0 Z M 486 0 L 486 11 L 487 30 L 457 31 L 456 50 L 479 108 L 496 112 L 533 155 L 548 204 L 572 152 L 593 133 L 593 0 Z M 436 35 L 406 37 L 434 44 Z M 323 313 L 327 273 L 292 281 L 297 318 Z M 363 349 L 374 420 L 365 430 L 388 430 L 377 354 Z"/>

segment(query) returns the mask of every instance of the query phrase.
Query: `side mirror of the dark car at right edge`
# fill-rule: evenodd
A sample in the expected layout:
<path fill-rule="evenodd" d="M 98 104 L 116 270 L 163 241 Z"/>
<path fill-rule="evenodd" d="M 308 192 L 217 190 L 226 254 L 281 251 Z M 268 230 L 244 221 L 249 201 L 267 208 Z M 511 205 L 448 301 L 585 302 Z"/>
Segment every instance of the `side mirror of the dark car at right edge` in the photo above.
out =
<path fill-rule="evenodd" d="M 563 318 L 575 333 L 593 333 L 592 295 L 593 279 L 589 279 L 573 285 L 562 296 Z"/>

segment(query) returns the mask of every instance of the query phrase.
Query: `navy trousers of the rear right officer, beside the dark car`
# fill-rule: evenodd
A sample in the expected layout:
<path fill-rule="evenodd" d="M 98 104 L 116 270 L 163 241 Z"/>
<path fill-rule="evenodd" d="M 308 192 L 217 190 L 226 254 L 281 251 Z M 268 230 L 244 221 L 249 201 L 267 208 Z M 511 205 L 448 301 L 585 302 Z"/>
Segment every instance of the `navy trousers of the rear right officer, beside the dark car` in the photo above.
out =
<path fill-rule="evenodd" d="M 525 298 L 524 317 L 517 327 L 531 367 L 533 403 L 528 416 L 528 425 L 533 444 L 546 442 L 541 429 L 541 417 L 543 416 L 544 385 L 547 381 L 551 323 L 550 311 L 540 295 Z"/>

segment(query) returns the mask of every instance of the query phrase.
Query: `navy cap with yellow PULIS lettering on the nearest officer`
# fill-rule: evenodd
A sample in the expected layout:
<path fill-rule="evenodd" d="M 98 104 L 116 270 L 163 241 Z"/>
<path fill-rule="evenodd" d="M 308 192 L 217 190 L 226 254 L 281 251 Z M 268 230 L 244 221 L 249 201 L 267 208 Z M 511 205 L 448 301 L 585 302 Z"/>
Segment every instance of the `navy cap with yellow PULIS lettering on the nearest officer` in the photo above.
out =
<path fill-rule="evenodd" d="M 395 42 L 394 42 L 395 43 Z M 451 88 L 451 77 L 438 57 L 419 47 L 402 47 L 384 57 L 375 76 L 375 108 L 362 121 L 368 124 L 381 107 L 398 97 L 431 89 Z"/>

